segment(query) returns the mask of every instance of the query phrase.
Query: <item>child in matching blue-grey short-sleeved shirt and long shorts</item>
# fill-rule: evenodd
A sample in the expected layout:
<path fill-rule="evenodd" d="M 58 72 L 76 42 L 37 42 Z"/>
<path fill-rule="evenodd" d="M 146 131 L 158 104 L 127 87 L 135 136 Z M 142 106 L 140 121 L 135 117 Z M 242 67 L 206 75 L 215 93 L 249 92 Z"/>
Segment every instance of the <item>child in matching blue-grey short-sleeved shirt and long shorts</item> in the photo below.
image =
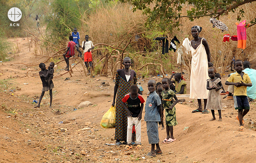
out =
<path fill-rule="evenodd" d="M 158 124 L 161 124 L 160 116 L 162 115 L 161 99 L 156 93 L 156 81 L 148 81 L 147 101 L 145 105 L 145 117 L 147 122 L 148 143 L 151 144 L 151 151 L 147 155 L 156 157 L 156 154 L 162 154 L 159 146 Z M 156 150 L 155 150 L 156 145 Z"/>

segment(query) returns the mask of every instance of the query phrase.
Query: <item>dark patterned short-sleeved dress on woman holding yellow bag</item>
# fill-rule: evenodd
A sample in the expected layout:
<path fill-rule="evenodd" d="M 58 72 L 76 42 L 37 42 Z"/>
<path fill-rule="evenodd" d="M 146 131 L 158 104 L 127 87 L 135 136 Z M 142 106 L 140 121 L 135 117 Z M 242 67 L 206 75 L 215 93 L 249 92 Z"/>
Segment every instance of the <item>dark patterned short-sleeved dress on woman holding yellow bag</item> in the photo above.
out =
<path fill-rule="evenodd" d="M 116 71 L 115 85 L 118 85 L 116 95 L 116 131 L 115 140 L 126 141 L 127 137 L 127 111 L 122 105 L 122 99 L 130 92 L 131 85 L 136 85 L 137 78 L 134 70 L 131 70 L 131 77 L 127 82 L 124 69 Z M 126 104 L 127 105 L 127 104 Z"/>

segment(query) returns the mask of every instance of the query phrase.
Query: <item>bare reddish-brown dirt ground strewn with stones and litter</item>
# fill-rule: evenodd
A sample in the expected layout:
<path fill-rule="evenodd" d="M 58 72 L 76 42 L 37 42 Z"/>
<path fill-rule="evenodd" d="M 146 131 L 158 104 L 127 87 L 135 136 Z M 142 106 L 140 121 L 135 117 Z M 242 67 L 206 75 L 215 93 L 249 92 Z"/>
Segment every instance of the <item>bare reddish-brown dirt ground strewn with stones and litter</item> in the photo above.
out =
<path fill-rule="evenodd" d="M 115 143 L 115 129 L 100 127 L 102 116 L 112 104 L 114 82 L 111 76 L 82 77 L 77 70 L 83 69 L 78 65 L 73 77 L 65 74 L 53 79 L 52 109 L 49 108 L 49 92 L 45 93 L 41 107 L 34 108 L 36 104 L 32 101 L 39 100 L 42 83 L 38 76 L 28 78 L 38 74 L 38 71 L 25 76 L 28 70 L 38 69 L 38 66 L 15 64 L 36 64 L 33 62 L 38 59 L 29 54 L 27 40 L 23 39 L 25 38 L 16 40 L 22 49 L 21 53 L 0 64 L 1 163 L 256 162 L 255 102 L 250 102 L 251 110 L 244 118 L 245 130 L 239 132 L 233 100 L 222 100 L 222 122 L 219 122 L 218 115 L 216 121 L 209 121 L 211 114 L 192 114 L 191 111 L 197 107 L 196 99 L 189 99 L 188 95 L 178 96 L 178 99 L 186 101 L 175 106 L 179 123 L 173 128 L 176 141 L 160 144 L 163 154 L 155 158 L 146 157 L 151 145 L 148 144 L 146 122 L 143 120 L 145 111 L 142 113 L 141 127 L 144 149 L 135 150 L 133 147 L 129 152 L 124 152 L 124 145 L 106 145 Z M 54 75 L 64 73 L 61 70 L 64 66 L 56 66 Z M 66 78 L 69 79 L 65 80 Z M 185 78 L 189 88 L 189 75 L 186 73 Z M 161 81 L 158 77 L 139 79 L 145 100 L 149 79 Z M 226 79 L 222 78 L 222 83 Z M 103 86 L 101 82 L 109 83 L 109 86 Z M 226 86 L 225 89 L 227 90 Z M 84 101 L 90 101 L 92 105 L 78 108 Z M 166 131 L 160 127 L 160 141 L 165 136 Z"/>

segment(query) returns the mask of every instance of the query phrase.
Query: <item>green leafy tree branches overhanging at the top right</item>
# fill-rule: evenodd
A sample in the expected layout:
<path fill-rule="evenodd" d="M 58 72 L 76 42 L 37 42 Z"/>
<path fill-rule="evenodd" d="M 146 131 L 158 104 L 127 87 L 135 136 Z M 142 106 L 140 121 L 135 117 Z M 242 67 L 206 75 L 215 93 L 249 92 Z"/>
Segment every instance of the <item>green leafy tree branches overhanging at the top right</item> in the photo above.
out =
<path fill-rule="evenodd" d="M 188 18 L 193 21 L 195 18 L 209 16 L 219 18 L 228 12 L 235 12 L 244 4 L 252 3 L 256 0 L 120 0 L 125 3 L 132 3 L 133 11 L 142 10 L 147 15 L 147 26 L 156 26 L 162 30 L 172 30 L 178 27 L 181 18 Z M 189 9 L 184 9 L 184 4 L 190 5 Z M 186 10 L 186 14 L 183 10 Z M 182 12 L 183 11 L 183 12 Z M 244 10 L 239 9 L 237 20 L 241 20 Z M 256 17 L 251 20 L 250 26 L 256 24 Z"/>

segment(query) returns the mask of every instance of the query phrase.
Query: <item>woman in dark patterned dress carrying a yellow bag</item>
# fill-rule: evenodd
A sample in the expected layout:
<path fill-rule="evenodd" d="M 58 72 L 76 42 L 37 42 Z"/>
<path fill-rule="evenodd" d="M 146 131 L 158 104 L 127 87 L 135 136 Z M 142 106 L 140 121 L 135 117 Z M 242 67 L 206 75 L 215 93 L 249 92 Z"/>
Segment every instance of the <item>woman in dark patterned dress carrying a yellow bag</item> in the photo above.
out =
<path fill-rule="evenodd" d="M 125 57 L 123 65 L 124 69 L 116 71 L 114 99 L 112 103 L 112 106 L 114 106 L 116 100 L 116 145 L 121 145 L 122 143 L 120 141 L 124 141 L 124 144 L 127 144 L 127 111 L 122 105 L 122 99 L 130 92 L 131 85 L 134 85 L 137 82 L 135 71 L 130 70 L 131 58 Z"/>

